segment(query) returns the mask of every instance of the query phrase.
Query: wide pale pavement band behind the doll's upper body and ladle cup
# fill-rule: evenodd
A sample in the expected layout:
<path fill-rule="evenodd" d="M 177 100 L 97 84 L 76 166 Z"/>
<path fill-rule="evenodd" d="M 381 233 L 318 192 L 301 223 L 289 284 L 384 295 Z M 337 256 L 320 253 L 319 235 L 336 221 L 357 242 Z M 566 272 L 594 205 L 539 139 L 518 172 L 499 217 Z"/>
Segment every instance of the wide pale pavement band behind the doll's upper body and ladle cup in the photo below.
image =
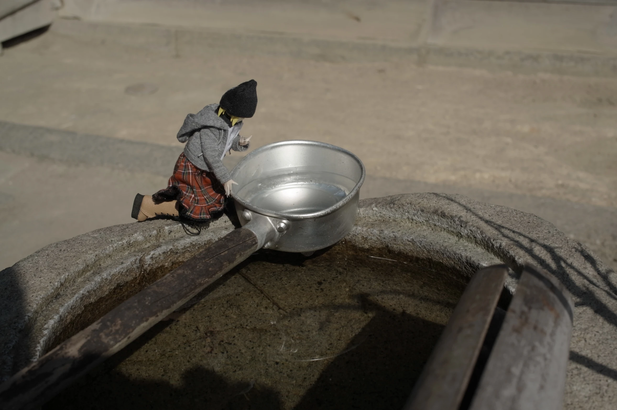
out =
<path fill-rule="evenodd" d="M 249 78 L 257 145 L 321 140 L 371 175 L 617 206 L 617 80 L 331 63 L 242 53 L 167 57 L 48 32 L 7 48 L 0 120 L 177 145 L 184 116 Z M 128 86 L 152 83 L 135 95 Z"/>

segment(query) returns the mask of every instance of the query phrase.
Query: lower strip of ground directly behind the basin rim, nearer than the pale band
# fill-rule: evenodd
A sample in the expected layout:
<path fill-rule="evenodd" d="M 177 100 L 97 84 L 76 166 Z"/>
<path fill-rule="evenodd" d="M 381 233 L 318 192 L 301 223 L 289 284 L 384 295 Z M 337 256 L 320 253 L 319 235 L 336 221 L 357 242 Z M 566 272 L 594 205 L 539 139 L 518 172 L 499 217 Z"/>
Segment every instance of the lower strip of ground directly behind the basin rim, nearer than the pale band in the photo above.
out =
<path fill-rule="evenodd" d="M 135 193 L 164 187 L 181 146 L 0 122 L 0 267 L 54 241 L 133 222 Z M 232 168 L 239 155 L 225 157 Z M 460 193 L 539 215 L 617 268 L 617 209 L 553 198 L 368 175 L 361 198 Z M 35 198 L 33 200 L 33 198 Z"/>

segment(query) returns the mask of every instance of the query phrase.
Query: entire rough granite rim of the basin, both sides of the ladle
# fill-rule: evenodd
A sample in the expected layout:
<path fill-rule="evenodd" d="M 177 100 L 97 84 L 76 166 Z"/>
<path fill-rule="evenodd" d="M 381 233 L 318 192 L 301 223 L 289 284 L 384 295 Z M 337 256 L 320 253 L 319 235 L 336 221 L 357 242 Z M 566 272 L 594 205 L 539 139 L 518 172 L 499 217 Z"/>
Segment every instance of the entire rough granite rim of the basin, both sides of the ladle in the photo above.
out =
<path fill-rule="evenodd" d="M 169 220 L 117 225 L 53 243 L 2 270 L 0 380 L 232 229 L 226 217 L 199 236 Z M 440 262 L 466 276 L 505 263 L 511 291 L 525 262 L 549 271 L 576 306 L 565 408 L 614 408 L 617 275 L 549 222 L 460 195 L 406 194 L 360 201 L 346 240 Z"/>

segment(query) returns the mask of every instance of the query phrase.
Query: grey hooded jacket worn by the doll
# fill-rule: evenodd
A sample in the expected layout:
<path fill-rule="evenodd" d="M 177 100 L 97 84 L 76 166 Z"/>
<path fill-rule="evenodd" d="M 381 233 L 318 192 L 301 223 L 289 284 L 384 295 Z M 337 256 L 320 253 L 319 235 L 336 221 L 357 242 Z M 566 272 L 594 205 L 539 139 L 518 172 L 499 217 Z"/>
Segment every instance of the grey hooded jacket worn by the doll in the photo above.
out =
<path fill-rule="evenodd" d="M 212 172 L 220 183 L 231 179 L 230 172 L 223 165 L 221 157 L 225 151 L 227 136 L 231 121 L 217 115 L 218 104 L 205 106 L 197 114 L 186 115 L 184 123 L 178 131 L 178 141 L 186 143 L 184 155 L 197 168 Z M 242 127 L 242 122 L 236 124 Z M 188 141 L 188 142 L 187 142 Z M 240 134 L 234 138 L 231 149 L 246 151 L 249 144 L 239 144 Z"/>

